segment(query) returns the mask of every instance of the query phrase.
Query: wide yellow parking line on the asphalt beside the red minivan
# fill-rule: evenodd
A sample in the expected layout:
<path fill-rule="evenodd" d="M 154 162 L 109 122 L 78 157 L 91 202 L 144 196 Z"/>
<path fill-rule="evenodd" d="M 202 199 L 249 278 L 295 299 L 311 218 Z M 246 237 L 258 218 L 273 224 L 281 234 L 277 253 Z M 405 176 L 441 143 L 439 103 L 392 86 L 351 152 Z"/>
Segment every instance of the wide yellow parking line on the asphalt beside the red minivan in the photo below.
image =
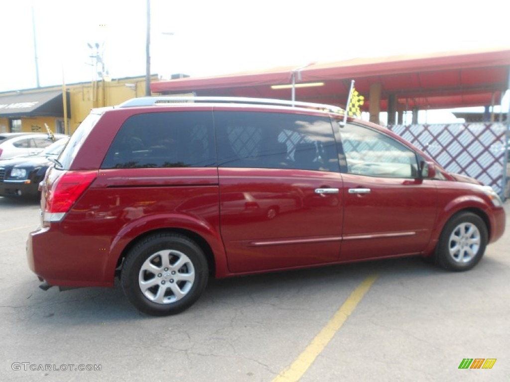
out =
<path fill-rule="evenodd" d="M 319 356 L 322 350 L 324 350 L 329 341 L 333 339 L 347 317 L 349 317 L 354 309 L 356 309 L 356 306 L 358 306 L 365 293 L 368 292 L 375 279 L 377 279 L 377 275 L 369 276 L 358 286 L 358 288 L 354 289 L 349 298 L 347 298 L 345 303 L 343 303 L 326 326 L 322 328 L 319 334 L 315 336 L 307 348 L 299 354 L 296 360 L 287 369 L 279 373 L 272 382 L 298 381 Z"/>

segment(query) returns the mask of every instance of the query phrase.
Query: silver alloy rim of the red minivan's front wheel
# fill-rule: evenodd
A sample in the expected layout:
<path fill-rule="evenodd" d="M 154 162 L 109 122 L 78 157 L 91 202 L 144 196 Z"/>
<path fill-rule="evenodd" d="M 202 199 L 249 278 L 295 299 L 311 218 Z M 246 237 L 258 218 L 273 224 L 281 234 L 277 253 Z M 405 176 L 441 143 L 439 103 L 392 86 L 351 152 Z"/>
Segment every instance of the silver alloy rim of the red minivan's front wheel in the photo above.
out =
<path fill-rule="evenodd" d="M 480 242 L 480 231 L 476 225 L 464 222 L 453 229 L 448 241 L 448 251 L 453 261 L 467 263 L 478 254 Z"/>

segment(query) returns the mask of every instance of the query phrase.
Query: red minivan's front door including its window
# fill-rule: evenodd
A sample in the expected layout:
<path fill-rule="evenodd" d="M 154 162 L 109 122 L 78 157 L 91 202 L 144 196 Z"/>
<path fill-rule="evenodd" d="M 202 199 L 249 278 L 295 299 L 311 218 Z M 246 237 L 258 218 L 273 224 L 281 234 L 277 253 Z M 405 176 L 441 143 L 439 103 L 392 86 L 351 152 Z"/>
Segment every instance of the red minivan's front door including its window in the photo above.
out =
<path fill-rule="evenodd" d="M 337 127 L 338 128 L 338 127 Z M 416 153 L 358 124 L 340 128 L 345 154 L 342 260 L 419 253 L 436 220 L 437 190 Z"/>

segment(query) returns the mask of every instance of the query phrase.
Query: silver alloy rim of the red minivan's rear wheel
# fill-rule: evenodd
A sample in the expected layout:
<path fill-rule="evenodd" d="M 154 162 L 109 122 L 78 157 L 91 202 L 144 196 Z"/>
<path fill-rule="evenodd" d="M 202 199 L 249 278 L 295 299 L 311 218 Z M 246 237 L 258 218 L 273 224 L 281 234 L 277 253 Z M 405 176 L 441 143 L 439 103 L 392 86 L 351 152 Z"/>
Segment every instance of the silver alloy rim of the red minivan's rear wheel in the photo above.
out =
<path fill-rule="evenodd" d="M 191 290 L 195 268 L 184 253 L 162 250 L 149 256 L 140 267 L 138 286 L 151 302 L 172 304 Z"/>

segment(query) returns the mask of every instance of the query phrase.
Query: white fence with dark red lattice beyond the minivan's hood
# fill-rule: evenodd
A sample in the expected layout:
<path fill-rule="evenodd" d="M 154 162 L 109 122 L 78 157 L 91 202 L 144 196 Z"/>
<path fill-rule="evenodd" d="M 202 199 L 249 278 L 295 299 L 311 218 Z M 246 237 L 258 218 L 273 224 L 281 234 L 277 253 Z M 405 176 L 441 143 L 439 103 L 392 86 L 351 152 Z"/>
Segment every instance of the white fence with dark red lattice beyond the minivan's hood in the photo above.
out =
<path fill-rule="evenodd" d="M 388 128 L 436 159 L 448 172 L 476 178 L 501 194 L 505 124 L 392 125 Z"/>

